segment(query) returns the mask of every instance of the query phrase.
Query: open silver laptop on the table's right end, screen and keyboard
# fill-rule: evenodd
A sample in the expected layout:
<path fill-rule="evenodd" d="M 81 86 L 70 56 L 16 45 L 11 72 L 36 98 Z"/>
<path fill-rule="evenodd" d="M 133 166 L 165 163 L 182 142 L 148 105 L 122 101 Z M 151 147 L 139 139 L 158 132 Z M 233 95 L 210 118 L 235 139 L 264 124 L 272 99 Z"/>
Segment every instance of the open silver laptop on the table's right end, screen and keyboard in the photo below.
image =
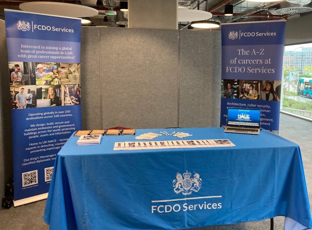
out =
<path fill-rule="evenodd" d="M 227 133 L 260 133 L 261 109 L 228 108 Z"/>

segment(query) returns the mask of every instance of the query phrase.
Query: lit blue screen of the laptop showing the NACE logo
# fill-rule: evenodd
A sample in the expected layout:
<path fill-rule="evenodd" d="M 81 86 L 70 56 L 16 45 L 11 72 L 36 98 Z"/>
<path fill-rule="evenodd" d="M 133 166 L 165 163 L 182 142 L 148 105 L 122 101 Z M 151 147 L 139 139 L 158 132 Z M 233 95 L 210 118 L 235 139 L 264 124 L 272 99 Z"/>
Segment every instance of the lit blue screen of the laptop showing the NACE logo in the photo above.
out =
<path fill-rule="evenodd" d="M 260 128 L 260 109 L 227 109 L 227 126 Z"/>

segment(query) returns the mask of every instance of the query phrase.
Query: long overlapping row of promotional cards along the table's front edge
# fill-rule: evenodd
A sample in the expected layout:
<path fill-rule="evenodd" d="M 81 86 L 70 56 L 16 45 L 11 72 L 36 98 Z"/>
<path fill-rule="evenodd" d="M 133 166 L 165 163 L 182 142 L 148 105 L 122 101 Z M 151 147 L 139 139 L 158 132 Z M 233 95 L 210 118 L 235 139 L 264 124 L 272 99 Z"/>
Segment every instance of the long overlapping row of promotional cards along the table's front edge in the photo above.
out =
<path fill-rule="evenodd" d="M 162 148 L 207 148 L 235 146 L 229 139 L 115 142 L 114 150 L 139 150 Z"/>

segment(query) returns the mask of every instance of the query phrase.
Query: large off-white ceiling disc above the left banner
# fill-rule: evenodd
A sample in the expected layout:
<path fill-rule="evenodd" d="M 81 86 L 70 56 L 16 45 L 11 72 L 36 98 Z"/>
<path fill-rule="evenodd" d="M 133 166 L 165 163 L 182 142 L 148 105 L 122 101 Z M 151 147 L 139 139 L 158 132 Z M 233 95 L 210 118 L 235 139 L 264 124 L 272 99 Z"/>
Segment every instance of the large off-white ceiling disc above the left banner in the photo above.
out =
<path fill-rule="evenodd" d="M 92 17 L 99 14 L 94 8 L 63 2 L 23 2 L 19 8 L 32 13 L 64 17 Z"/>

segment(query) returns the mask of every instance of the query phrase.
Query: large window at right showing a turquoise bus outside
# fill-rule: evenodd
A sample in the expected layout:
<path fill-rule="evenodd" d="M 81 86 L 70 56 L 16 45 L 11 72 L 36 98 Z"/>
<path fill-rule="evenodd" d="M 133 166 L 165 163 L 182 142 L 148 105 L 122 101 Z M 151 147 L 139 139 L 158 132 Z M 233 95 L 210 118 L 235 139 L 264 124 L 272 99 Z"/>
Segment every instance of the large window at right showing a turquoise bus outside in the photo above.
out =
<path fill-rule="evenodd" d="M 285 46 L 281 110 L 312 118 L 312 43 Z"/>

